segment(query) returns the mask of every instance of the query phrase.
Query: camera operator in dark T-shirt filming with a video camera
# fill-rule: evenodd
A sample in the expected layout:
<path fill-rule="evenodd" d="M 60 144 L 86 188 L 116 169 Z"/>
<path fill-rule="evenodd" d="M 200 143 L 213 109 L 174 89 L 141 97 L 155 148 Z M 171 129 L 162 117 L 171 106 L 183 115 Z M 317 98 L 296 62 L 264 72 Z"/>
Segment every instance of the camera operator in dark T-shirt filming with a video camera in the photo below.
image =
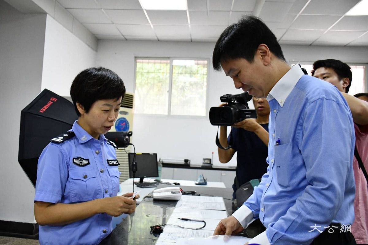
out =
<path fill-rule="evenodd" d="M 257 118 L 244 119 L 234 123 L 230 135 L 233 138 L 231 148 L 224 150 L 218 147 L 219 160 L 227 163 L 237 154 L 236 177 L 233 184 L 233 199 L 240 185 L 252 180 L 261 179 L 267 170 L 268 118 L 270 107 L 265 98 L 253 97 Z M 223 106 L 226 104 L 221 104 Z M 226 148 L 230 142 L 230 135 L 226 137 L 227 126 L 220 126 L 220 144 Z"/>

